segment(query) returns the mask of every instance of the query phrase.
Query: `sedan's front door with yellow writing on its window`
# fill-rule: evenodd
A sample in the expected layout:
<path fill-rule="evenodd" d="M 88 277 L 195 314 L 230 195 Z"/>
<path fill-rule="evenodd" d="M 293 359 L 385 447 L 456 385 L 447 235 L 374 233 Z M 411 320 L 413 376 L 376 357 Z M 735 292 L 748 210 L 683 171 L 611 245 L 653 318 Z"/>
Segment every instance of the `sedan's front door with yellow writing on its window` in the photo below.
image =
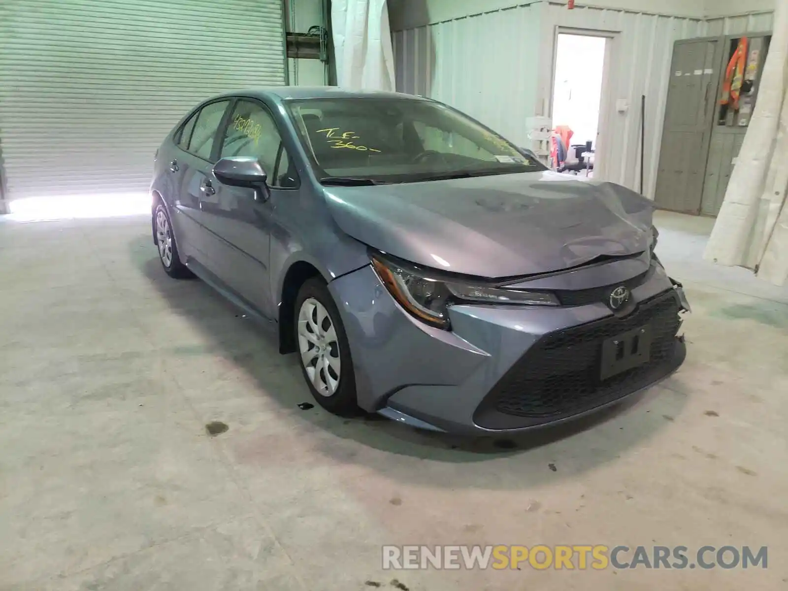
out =
<path fill-rule="evenodd" d="M 257 158 L 268 175 L 268 195 L 222 184 L 212 174 L 200 195 L 206 226 L 232 247 L 223 272 L 233 291 L 268 318 L 276 310 L 269 277 L 273 214 L 278 199 L 297 190 L 298 177 L 284 149 L 277 125 L 262 102 L 238 99 L 219 143 L 219 158 Z"/>

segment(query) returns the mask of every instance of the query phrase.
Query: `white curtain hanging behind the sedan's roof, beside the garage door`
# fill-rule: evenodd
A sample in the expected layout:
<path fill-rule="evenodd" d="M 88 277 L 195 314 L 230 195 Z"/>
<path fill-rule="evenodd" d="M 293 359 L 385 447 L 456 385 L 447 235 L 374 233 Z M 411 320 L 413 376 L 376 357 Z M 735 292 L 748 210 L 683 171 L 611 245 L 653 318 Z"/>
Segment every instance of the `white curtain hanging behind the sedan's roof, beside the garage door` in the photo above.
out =
<path fill-rule="evenodd" d="M 386 0 L 332 0 L 336 82 L 342 88 L 394 90 Z"/>

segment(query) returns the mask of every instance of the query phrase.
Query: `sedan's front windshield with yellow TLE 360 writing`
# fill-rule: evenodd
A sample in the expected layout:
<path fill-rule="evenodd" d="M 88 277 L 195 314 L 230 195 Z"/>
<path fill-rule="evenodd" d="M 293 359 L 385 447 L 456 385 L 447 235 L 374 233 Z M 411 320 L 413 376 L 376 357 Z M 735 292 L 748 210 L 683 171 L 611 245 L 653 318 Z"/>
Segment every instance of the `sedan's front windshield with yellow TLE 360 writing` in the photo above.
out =
<path fill-rule="evenodd" d="M 318 175 L 330 180 L 414 182 L 545 167 L 462 113 L 421 99 L 288 101 Z"/>

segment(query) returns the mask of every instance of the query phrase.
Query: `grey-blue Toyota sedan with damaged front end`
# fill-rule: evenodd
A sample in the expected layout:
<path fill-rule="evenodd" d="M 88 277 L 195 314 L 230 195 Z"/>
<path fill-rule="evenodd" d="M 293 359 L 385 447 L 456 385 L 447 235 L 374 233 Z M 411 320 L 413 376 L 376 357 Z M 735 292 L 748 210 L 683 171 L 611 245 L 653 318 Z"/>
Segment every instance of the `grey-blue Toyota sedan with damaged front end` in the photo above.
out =
<path fill-rule="evenodd" d="M 622 400 L 686 355 L 652 203 L 552 173 L 440 102 L 217 96 L 165 138 L 151 193 L 166 273 L 268 325 L 336 414 L 514 432 Z"/>

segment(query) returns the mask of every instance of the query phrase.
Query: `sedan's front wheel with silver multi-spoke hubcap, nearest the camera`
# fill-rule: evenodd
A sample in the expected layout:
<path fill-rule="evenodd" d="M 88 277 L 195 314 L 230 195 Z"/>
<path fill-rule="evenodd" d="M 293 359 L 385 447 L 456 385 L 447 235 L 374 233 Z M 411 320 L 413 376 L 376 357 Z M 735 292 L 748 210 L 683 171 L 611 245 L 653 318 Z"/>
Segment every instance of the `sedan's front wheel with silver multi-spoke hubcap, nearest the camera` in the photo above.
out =
<path fill-rule="evenodd" d="M 295 309 L 296 351 L 314 400 L 333 414 L 359 414 L 348 336 L 325 283 L 315 277 L 305 281 Z"/>

